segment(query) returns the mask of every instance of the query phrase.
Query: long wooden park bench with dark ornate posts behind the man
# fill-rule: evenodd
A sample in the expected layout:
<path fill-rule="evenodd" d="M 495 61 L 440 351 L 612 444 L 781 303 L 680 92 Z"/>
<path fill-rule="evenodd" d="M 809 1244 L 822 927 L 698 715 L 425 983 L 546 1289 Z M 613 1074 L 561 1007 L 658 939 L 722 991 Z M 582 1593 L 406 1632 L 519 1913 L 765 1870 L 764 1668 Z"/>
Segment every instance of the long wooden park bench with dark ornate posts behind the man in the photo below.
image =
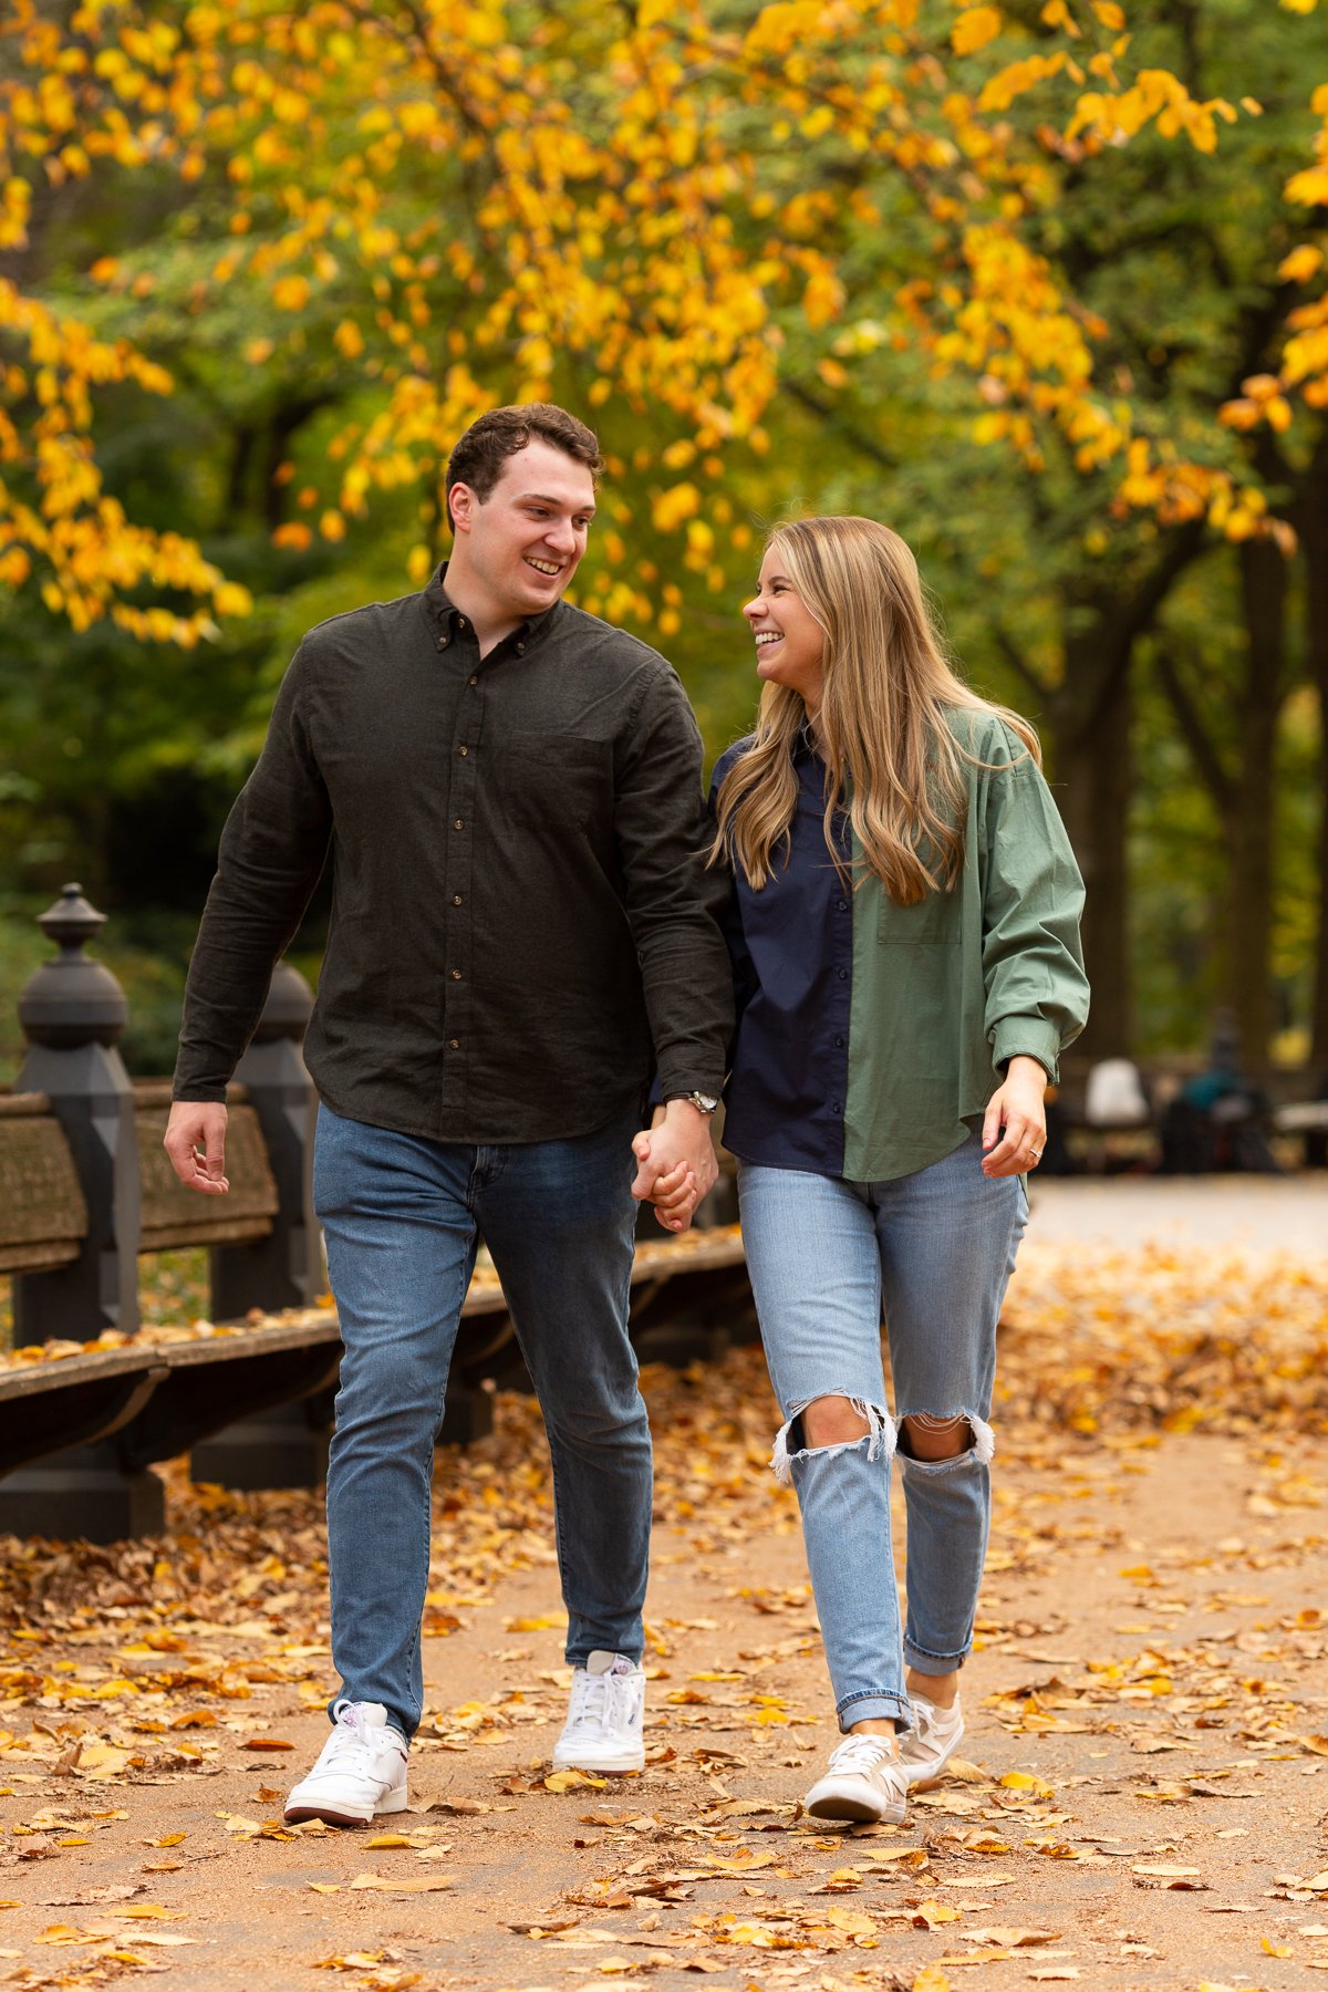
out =
<path fill-rule="evenodd" d="M 169 1086 L 131 1084 L 127 1006 L 84 954 L 102 914 L 66 886 L 40 924 L 62 946 L 20 998 L 30 1052 L 0 1094 L 0 1273 L 14 1281 L 0 1355 L 0 1532 L 111 1542 L 163 1528 L 155 1462 L 191 1450 L 195 1480 L 323 1478 L 340 1359 L 311 1201 L 315 1094 L 299 1042 L 309 986 L 273 976 L 227 1094 L 225 1199 L 177 1181 L 161 1147 Z M 205 1247 L 211 1319 L 143 1329 L 137 1259 Z M 713 1355 L 751 1313 L 737 1225 L 637 1247 L 633 1339 L 647 1357 Z M 442 1442 L 492 1428 L 494 1378 L 520 1380 L 502 1289 L 478 1273 L 462 1309 Z"/>

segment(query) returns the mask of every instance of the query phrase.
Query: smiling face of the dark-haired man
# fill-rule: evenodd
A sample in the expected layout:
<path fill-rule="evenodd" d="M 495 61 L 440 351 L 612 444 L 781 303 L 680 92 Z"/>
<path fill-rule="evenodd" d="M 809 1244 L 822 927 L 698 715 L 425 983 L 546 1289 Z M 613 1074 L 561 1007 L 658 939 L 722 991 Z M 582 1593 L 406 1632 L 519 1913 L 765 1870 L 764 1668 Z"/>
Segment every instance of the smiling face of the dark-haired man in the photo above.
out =
<path fill-rule="evenodd" d="M 585 552 L 595 516 L 595 482 L 550 442 L 508 456 L 498 484 L 480 500 L 452 486 L 454 560 L 484 592 L 490 614 L 524 620 L 553 608 Z"/>

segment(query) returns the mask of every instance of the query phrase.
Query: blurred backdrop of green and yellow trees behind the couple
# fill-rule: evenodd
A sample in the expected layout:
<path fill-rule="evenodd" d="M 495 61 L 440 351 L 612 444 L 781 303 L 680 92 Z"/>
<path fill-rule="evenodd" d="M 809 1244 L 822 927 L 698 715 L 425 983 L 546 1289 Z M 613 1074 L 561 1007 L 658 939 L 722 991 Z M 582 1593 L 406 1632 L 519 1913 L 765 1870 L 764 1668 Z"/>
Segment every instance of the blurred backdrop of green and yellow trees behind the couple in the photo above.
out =
<path fill-rule="evenodd" d="M 1314 0 L 18 0 L 0 1034 L 80 876 L 169 1066 L 299 633 L 418 586 L 454 436 L 555 398 L 611 460 L 575 600 L 711 753 L 763 528 L 884 516 L 1043 731 L 1087 1048 L 1228 1002 L 1328 1062 L 1326 116 Z"/>

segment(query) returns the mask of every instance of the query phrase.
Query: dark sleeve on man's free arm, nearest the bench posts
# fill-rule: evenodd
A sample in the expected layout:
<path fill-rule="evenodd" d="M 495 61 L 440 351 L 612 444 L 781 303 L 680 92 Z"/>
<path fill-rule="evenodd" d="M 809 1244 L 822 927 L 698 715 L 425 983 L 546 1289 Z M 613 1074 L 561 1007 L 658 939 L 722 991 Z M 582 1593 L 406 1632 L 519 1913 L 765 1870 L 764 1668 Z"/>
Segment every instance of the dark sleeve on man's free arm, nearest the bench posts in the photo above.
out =
<path fill-rule="evenodd" d="M 189 962 L 175 1100 L 225 1100 L 327 863 L 332 811 L 307 723 L 305 649 L 281 683 L 259 763 L 217 855 Z"/>

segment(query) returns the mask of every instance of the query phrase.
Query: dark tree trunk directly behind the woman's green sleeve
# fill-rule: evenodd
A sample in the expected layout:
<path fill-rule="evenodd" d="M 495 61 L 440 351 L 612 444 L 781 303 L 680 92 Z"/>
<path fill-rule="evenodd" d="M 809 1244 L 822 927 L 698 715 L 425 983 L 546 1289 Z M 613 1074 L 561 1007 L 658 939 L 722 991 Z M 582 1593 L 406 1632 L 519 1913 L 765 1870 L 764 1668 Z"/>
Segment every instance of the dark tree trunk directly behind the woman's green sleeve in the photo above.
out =
<path fill-rule="evenodd" d="M 1101 622 L 1067 637 L 1065 681 L 1049 701 L 1051 789 L 1087 892 L 1083 960 L 1093 992 L 1075 1044 L 1087 1058 L 1127 1056 L 1133 1042 L 1129 972 L 1127 817 L 1131 791 L 1131 639 Z M 1075 695 L 1087 687 L 1091 697 Z"/>

